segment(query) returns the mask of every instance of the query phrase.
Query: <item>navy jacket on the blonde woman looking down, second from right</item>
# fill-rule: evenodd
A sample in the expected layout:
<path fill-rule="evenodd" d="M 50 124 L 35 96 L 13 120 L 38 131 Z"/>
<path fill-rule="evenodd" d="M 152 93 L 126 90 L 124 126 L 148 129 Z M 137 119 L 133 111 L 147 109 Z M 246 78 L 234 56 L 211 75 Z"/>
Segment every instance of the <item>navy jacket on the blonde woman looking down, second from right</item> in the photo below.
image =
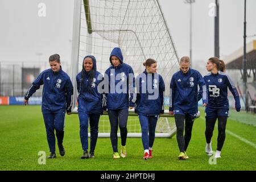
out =
<path fill-rule="evenodd" d="M 208 103 L 207 88 L 201 74 L 195 69 L 187 73 L 178 71 L 174 73 L 170 84 L 170 111 L 175 114 L 197 113 L 198 90 L 197 85 L 203 90 L 203 103 Z"/>

